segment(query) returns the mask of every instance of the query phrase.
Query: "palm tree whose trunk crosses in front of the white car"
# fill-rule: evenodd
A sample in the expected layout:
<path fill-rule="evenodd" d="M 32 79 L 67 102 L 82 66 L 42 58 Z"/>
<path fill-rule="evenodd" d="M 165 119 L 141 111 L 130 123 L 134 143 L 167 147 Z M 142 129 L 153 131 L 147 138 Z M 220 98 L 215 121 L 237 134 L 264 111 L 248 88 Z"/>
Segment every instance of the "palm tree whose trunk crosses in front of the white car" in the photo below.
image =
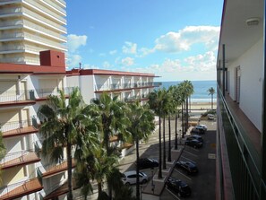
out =
<path fill-rule="evenodd" d="M 129 104 L 130 112 L 128 113 L 131 126 L 128 127 L 128 131 L 133 137 L 133 141 L 136 144 L 136 162 L 139 162 L 139 143 L 140 140 L 146 141 L 149 135 L 154 131 L 154 116 L 151 112 L 149 105 L 142 106 L 139 101 L 135 101 Z M 139 174 L 139 166 L 136 167 L 136 173 Z M 136 197 L 140 199 L 140 178 L 136 177 Z"/>

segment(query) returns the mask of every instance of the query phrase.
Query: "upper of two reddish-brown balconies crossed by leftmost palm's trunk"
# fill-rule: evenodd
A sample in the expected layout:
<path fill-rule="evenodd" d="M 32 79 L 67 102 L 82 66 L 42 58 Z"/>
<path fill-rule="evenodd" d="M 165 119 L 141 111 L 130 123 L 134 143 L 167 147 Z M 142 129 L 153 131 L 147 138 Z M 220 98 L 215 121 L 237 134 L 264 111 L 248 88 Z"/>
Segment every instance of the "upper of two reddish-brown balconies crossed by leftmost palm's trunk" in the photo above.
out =
<path fill-rule="evenodd" d="M 55 176 L 56 174 L 62 173 L 67 170 L 67 161 L 64 160 L 59 164 L 49 164 L 47 166 L 42 166 L 37 169 L 38 177 L 40 182 L 42 182 L 43 178 L 50 178 Z M 72 160 L 72 168 L 76 167 L 76 161 Z"/>

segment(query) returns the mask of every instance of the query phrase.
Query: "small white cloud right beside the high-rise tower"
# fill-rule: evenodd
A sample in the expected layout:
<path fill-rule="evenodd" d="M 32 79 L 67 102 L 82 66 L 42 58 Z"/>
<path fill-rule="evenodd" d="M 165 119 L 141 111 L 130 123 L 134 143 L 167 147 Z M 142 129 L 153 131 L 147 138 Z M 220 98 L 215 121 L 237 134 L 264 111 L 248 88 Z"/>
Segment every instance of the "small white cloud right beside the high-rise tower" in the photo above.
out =
<path fill-rule="evenodd" d="M 70 34 L 67 36 L 67 43 L 66 43 L 68 47 L 68 51 L 70 53 L 74 53 L 81 46 L 86 46 L 86 42 L 87 42 L 87 36 L 85 35 L 78 36 L 78 35 Z"/>

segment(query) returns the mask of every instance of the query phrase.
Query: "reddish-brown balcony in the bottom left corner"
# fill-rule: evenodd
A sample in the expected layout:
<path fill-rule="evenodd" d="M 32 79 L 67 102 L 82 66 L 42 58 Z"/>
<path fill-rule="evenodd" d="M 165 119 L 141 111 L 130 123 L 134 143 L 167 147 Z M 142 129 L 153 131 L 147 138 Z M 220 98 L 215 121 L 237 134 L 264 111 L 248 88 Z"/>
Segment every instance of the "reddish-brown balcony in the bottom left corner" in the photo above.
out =
<path fill-rule="evenodd" d="M 31 178 L 26 181 L 15 183 L 12 185 L 0 187 L 0 199 L 10 200 L 27 196 L 42 190 L 43 187 L 39 183 L 38 178 Z"/>

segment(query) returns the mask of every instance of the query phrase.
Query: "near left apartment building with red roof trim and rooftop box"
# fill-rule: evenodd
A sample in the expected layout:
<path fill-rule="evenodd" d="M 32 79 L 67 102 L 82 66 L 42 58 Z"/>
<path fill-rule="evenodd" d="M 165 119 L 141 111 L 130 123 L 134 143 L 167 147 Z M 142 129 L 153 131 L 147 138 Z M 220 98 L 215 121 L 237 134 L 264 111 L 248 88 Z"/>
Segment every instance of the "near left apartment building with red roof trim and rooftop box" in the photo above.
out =
<path fill-rule="evenodd" d="M 56 196 L 64 199 L 67 193 L 67 190 L 57 193 L 67 183 L 66 161 L 49 163 L 42 157 L 43 137 L 39 134 L 37 117 L 39 106 L 48 95 L 57 95 L 58 90 L 67 95 L 70 91 L 66 88 L 64 53 L 46 51 L 40 57 L 45 65 L 0 63 L 0 125 L 6 148 L 6 155 L 0 161 L 3 200 Z"/>

